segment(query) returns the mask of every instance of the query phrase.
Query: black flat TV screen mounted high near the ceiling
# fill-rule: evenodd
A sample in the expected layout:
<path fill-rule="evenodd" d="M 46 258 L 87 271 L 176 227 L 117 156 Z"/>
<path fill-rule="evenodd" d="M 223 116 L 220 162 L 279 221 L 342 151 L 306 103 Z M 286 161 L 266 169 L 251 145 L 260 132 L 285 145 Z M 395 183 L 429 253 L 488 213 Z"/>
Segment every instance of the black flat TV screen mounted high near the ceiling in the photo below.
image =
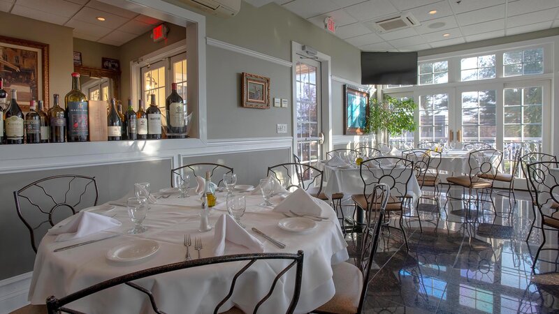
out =
<path fill-rule="evenodd" d="M 361 52 L 361 84 L 417 84 L 417 52 Z"/>

